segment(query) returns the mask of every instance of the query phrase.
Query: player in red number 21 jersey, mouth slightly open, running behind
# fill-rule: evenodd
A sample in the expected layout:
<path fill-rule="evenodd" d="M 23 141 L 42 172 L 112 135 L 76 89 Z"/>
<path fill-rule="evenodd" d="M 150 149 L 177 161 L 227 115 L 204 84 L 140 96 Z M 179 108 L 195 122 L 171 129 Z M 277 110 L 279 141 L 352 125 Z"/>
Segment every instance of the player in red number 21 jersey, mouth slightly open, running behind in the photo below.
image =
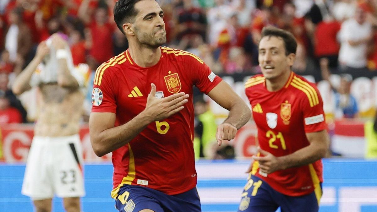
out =
<path fill-rule="evenodd" d="M 322 196 L 322 162 L 329 140 L 322 98 L 313 83 L 291 71 L 297 43 L 293 35 L 264 28 L 259 42 L 263 75 L 245 84 L 258 129 L 239 211 L 314 212 Z"/>

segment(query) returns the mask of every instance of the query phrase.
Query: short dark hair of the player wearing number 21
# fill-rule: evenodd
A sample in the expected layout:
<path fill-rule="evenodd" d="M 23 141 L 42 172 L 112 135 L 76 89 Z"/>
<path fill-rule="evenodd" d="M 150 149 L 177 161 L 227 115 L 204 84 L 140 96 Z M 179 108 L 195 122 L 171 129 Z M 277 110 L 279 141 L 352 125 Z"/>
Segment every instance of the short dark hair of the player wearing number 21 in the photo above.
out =
<path fill-rule="evenodd" d="M 285 31 L 283 29 L 279 29 L 273 26 L 266 26 L 262 29 L 262 36 L 263 37 L 280 37 L 283 39 L 284 42 L 284 48 L 286 55 L 289 55 L 291 53 L 296 54 L 297 49 L 297 41 L 296 38 L 294 38 L 294 35 L 291 32 Z"/>

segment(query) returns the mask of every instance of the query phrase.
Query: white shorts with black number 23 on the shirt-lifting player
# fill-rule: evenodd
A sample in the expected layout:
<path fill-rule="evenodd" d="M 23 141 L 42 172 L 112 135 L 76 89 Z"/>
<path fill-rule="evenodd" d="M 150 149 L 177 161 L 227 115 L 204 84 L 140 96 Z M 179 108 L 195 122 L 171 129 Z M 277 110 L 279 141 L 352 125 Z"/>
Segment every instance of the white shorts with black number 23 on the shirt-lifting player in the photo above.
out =
<path fill-rule="evenodd" d="M 78 135 L 38 137 L 31 143 L 21 193 L 32 199 L 83 197 L 83 151 Z"/>

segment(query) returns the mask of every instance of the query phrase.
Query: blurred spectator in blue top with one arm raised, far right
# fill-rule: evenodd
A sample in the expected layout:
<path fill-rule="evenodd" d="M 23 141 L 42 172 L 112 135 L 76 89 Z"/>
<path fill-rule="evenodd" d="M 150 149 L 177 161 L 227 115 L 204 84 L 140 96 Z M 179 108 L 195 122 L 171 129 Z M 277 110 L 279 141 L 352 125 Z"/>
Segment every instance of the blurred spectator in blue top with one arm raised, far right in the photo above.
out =
<path fill-rule="evenodd" d="M 336 87 L 330 80 L 328 58 L 320 59 L 320 69 L 323 80 L 328 81 L 335 92 L 335 117 L 336 118 L 355 118 L 359 112 L 356 98 L 351 94 L 352 76 L 349 74 L 340 75 L 339 87 Z"/>

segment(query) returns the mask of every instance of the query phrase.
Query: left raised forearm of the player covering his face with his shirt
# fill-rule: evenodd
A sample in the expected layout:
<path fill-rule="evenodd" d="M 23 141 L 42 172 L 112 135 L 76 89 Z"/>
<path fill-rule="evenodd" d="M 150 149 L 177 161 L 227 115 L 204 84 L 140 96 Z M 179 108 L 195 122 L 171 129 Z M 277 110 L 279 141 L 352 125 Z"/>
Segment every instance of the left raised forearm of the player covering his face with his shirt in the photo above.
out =
<path fill-rule="evenodd" d="M 34 57 L 29 65 L 17 76 L 12 86 L 12 91 L 15 95 L 20 95 L 31 88 L 29 84 L 31 76 L 41 61 L 42 58 Z"/>

